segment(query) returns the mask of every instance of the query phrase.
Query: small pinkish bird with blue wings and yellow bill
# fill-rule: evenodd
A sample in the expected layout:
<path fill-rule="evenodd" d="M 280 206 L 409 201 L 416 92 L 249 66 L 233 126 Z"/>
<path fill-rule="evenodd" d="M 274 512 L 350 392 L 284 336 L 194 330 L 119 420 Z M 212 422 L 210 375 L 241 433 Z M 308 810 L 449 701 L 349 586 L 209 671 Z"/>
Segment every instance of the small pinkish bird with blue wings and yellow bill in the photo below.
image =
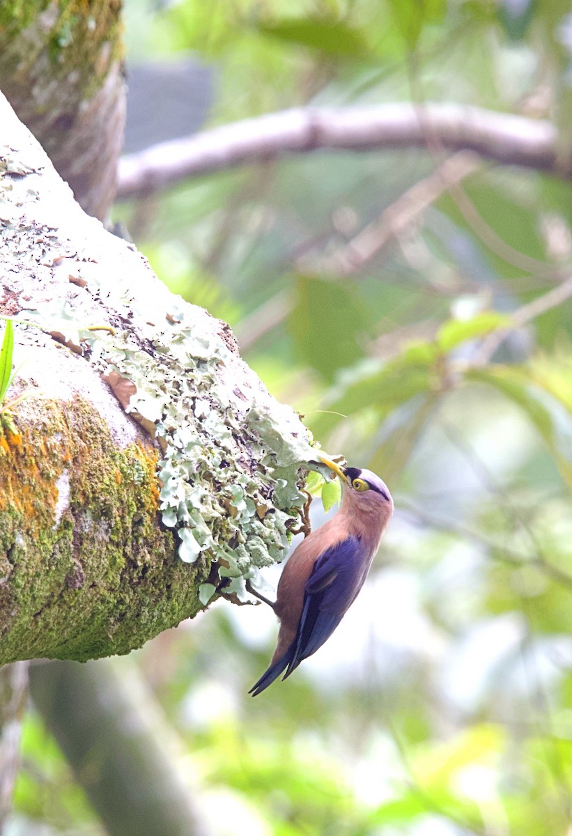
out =
<path fill-rule="evenodd" d="M 391 493 L 375 473 L 320 458 L 340 477 L 340 510 L 294 550 L 280 576 L 276 602 L 258 596 L 273 607 L 280 630 L 268 670 L 248 691 L 252 696 L 284 670 L 286 679 L 329 639 L 364 585 L 393 513 Z"/>

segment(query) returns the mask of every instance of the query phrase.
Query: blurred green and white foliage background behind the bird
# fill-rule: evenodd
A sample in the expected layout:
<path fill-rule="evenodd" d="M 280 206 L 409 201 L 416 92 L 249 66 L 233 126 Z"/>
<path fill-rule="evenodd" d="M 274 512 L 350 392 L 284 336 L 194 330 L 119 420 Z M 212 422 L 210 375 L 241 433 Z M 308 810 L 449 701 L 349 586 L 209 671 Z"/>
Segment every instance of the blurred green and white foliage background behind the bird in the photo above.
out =
<path fill-rule="evenodd" d="M 456 101 L 549 118 L 563 153 L 571 32 L 564 0 L 126 7 L 132 63 L 212 67 L 210 125 Z M 215 605 L 135 655 L 218 833 L 569 833 L 572 188 L 482 162 L 392 227 L 444 159 L 314 153 L 118 207 L 161 278 L 396 498 L 359 602 L 287 683 L 247 696 L 263 607 Z M 373 222 L 375 253 L 336 273 Z M 14 833 L 99 833 L 46 735 L 30 716 Z"/>

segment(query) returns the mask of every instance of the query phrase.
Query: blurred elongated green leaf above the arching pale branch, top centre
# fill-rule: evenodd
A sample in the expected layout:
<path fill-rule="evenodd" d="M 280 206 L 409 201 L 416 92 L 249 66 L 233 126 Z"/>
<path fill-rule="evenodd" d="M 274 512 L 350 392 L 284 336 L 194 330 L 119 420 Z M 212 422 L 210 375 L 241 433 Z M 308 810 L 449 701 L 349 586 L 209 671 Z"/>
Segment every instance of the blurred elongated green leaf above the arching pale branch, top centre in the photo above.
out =
<path fill-rule="evenodd" d="M 370 52 L 360 33 L 340 21 L 288 18 L 274 23 L 258 23 L 257 28 L 263 35 L 340 58 L 364 58 Z"/>

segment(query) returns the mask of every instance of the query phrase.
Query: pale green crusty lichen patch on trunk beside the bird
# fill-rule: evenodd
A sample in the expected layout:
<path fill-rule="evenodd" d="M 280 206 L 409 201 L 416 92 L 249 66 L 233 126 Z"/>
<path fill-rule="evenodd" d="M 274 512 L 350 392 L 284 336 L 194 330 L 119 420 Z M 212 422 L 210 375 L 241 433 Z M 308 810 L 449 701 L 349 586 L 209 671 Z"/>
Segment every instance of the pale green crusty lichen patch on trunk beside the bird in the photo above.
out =
<path fill-rule="evenodd" d="M 230 579 L 225 591 L 243 597 L 245 579 L 283 558 L 289 525 L 304 505 L 299 486 L 315 457 L 304 427 L 293 410 L 270 399 L 217 333 L 222 324 L 204 312 L 171 298 L 169 310 L 151 320 L 127 288 L 115 288 L 115 304 L 135 308 L 137 329 L 88 331 L 93 280 L 89 291 L 79 290 L 73 304 L 54 301 L 23 315 L 89 345 L 102 372 L 135 385 L 127 410 L 161 440 L 160 510 L 178 533 L 179 557 L 211 558 Z"/>

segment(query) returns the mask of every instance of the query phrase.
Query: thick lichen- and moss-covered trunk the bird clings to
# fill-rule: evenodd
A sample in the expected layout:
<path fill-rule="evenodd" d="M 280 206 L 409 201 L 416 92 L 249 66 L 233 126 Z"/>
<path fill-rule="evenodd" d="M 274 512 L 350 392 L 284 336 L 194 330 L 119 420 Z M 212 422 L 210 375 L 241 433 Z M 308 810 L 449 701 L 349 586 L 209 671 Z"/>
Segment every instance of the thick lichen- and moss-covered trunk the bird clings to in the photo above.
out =
<path fill-rule="evenodd" d="M 228 326 L 84 215 L 5 99 L 0 124 L 0 314 L 28 323 L 0 436 L 0 663 L 125 653 L 283 558 L 315 454 Z"/>

